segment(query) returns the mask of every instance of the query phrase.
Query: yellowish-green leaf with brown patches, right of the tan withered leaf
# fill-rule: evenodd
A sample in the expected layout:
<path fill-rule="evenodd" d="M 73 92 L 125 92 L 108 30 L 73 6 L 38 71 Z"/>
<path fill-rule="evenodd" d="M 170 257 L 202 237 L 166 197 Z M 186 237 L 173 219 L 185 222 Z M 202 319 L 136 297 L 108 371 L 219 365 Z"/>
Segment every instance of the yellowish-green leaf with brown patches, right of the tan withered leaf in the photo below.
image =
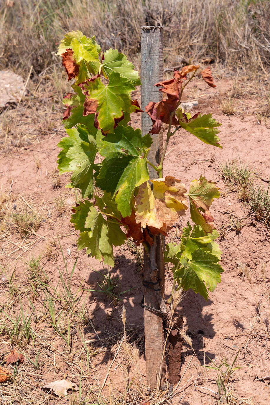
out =
<path fill-rule="evenodd" d="M 195 224 L 200 225 L 205 234 L 213 233 L 214 218 L 208 211 L 214 198 L 219 198 L 219 188 L 214 181 L 208 181 L 205 177 L 193 180 L 190 184 L 189 197 L 190 216 Z"/>

